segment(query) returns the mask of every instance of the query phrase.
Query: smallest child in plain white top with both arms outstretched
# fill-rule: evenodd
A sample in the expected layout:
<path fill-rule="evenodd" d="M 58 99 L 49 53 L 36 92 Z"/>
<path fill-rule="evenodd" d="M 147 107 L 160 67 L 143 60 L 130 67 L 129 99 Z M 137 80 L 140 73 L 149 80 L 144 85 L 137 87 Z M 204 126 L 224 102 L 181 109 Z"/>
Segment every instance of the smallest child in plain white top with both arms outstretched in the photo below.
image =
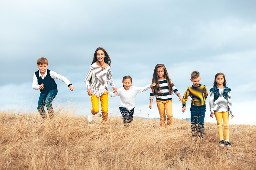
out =
<path fill-rule="evenodd" d="M 138 93 L 146 91 L 151 87 L 155 86 L 156 83 L 149 84 L 146 87 L 136 87 L 132 86 L 132 77 L 126 75 L 123 77 L 123 87 L 118 88 L 116 93 L 112 93 L 106 88 L 107 93 L 111 97 L 120 96 L 119 110 L 123 116 L 124 126 L 129 125 L 133 120 L 134 112 L 134 99 Z"/>

